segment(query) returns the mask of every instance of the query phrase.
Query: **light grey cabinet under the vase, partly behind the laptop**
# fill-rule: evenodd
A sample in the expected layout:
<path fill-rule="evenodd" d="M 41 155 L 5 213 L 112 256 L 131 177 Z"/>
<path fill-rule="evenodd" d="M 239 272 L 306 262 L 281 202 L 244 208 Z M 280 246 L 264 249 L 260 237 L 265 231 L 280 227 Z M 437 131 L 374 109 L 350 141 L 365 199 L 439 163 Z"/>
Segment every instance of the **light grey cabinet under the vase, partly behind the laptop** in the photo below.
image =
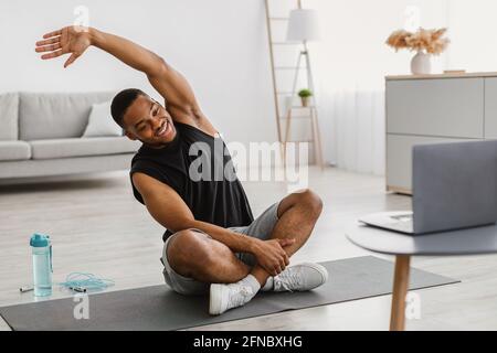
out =
<path fill-rule="evenodd" d="M 497 73 L 389 76 L 387 190 L 411 193 L 414 145 L 497 139 Z"/>

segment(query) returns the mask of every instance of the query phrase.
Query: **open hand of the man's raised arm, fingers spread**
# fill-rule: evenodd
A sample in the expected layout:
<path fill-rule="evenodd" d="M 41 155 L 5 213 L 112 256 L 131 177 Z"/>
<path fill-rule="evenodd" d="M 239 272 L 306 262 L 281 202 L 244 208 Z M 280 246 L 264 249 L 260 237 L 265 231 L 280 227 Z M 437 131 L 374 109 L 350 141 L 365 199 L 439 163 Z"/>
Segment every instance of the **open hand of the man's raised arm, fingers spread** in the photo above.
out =
<path fill-rule="evenodd" d="M 89 45 L 92 45 L 89 29 L 70 25 L 44 34 L 43 40 L 36 42 L 35 51 L 38 53 L 49 52 L 41 56 L 43 60 L 71 53 L 71 56 L 64 63 L 64 67 L 67 67 L 83 55 Z"/>

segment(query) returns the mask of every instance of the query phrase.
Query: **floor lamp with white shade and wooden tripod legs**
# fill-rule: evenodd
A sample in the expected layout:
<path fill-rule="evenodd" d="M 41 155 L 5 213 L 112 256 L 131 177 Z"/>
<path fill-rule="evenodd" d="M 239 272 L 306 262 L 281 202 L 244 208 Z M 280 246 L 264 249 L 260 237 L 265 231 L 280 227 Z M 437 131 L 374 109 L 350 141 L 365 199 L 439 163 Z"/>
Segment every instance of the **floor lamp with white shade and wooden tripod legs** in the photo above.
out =
<path fill-rule="evenodd" d="M 288 29 L 287 29 L 287 35 L 286 40 L 288 42 L 302 42 L 303 50 L 300 50 L 297 58 L 297 65 L 293 88 L 292 88 L 292 100 L 294 99 L 297 90 L 297 82 L 298 82 L 298 74 L 300 72 L 300 64 L 303 61 L 303 57 L 306 63 L 306 71 L 307 71 L 307 86 L 313 92 L 314 95 L 314 103 L 316 103 L 315 97 L 315 88 L 314 88 L 314 79 L 313 79 L 313 71 L 310 68 L 310 58 L 309 58 L 309 51 L 307 47 L 307 43 L 311 41 L 318 41 L 320 39 L 319 34 L 319 22 L 318 22 L 318 14 L 316 10 L 311 9 L 296 9 L 292 10 L 288 21 Z M 286 119 L 286 131 L 285 131 L 285 142 L 284 142 L 284 150 L 286 156 L 286 142 L 288 141 L 289 136 L 289 127 L 290 127 L 290 119 L 292 119 L 292 103 L 290 107 L 288 109 L 287 119 Z M 322 159 L 322 150 L 321 150 L 321 141 L 320 141 L 320 133 L 319 133 L 319 126 L 317 120 L 317 114 L 316 109 L 314 107 L 314 104 L 310 107 L 310 119 L 311 119 L 311 127 L 313 127 L 313 136 L 314 142 L 315 142 L 315 157 L 318 163 L 321 168 L 324 168 L 324 159 Z M 285 158 L 286 160 L 286 158 Z"/>

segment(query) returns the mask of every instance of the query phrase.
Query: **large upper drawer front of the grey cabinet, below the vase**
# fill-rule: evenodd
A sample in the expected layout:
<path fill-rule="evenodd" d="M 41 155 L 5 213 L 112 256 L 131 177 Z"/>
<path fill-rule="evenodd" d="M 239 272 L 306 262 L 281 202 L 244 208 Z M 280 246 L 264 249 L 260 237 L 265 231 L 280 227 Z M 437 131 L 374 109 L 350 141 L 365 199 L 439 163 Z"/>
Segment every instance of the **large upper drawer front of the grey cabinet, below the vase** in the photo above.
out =
<path fill-rule="evenodd" d="M 484 78 L 388 81 L 387 132 L 483 138 Z"/>

